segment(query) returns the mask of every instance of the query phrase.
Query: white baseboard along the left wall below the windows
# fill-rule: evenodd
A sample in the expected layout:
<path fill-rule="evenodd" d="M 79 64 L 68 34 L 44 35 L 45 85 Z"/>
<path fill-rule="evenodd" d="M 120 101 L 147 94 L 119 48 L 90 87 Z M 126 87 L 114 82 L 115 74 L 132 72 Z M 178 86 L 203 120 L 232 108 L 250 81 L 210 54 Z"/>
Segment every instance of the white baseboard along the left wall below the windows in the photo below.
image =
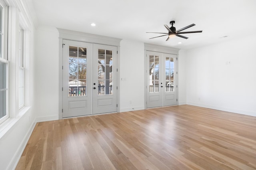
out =
<path fill-rule="evenodd" d="M 32 125 L 30 126 L 28 132 L 26 133 L 25 137 L 23 138 L 22 142 L 20 143 L 20 146 L 18 147 L 18 150 L 16 151 L 16 153 L 14 154 L 12 161 L 10 162 L 9 166 L 8 166 L 8 170 L 15 170 L 18 162 L 20 161 L 20 158 L 22 156 L 22 153 L 25 149 L 25 147 L 27 146 L 28 140 L 34 130 L 36 126 L 36 119 L 34 119 Z"/>

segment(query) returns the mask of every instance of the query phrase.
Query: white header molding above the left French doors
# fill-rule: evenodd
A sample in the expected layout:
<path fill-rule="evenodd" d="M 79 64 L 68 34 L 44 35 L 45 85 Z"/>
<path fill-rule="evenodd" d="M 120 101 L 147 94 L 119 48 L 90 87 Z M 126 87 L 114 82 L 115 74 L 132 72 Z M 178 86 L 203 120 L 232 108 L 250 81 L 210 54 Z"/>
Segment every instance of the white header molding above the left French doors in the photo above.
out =
<path fill-rule="evenodd" d="M 62 28 L 57 28 L 57 30 L 59 32 L 59 38 L 65 39 L 65 40 L 98 43 L 98 44 L 113 45 L 113 46 L 120 46 L 120 41 L 122 40 L 119 38 L 112 38 L 112 37 L 100 36 L 96 34 L 65 30 Z"/>

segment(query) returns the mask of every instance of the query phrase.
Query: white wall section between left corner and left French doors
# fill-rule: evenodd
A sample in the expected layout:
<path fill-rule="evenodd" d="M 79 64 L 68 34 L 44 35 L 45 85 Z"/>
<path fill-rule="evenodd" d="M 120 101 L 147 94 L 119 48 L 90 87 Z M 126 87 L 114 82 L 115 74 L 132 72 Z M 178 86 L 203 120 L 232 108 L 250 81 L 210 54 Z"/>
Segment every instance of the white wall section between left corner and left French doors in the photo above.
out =
<path fill-rule="evenodd" d="M 35 104 L 37 121 L 58 120 L 59 33 L 38 27 L 35 46 Z"/>

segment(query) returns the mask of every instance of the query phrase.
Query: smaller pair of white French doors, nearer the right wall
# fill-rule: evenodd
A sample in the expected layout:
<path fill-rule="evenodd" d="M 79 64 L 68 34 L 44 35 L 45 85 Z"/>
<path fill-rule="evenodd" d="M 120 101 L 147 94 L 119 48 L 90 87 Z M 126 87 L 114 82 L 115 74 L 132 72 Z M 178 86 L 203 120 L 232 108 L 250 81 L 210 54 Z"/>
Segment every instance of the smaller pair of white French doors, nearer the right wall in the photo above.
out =
<path fill-rule="evenodd" d="M 147 108 L 177 105 L 177 55 L 147 51 Z"/>

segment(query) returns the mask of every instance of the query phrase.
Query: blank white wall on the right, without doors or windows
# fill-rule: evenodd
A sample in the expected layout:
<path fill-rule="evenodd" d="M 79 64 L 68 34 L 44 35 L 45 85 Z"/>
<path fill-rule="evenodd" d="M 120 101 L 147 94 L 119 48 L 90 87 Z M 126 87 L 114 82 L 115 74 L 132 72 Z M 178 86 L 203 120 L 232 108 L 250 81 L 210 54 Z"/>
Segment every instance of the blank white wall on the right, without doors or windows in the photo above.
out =
<path fill-rule="evenodd" d="M 186 51 L 187 104 L 256 116 L 255 44 L 256 35 Z"/>

